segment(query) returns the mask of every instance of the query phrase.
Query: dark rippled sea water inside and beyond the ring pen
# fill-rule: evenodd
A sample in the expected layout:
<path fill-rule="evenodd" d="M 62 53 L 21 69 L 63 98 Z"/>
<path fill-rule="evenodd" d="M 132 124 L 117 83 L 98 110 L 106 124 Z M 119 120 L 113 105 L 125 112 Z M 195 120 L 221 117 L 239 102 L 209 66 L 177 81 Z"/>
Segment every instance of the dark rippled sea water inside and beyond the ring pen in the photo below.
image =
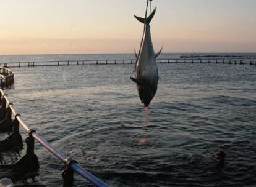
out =
<path fill-rule="evenodd" d="M 17 55 L 0 62 L 97 58 L 134 55 Z M 109 186 L 256 185 L 256 65 L 158 64 L 148 111 L 130 80 L 133 68 L 12 68 L 15 84 L 6 92 L 31 128 Z M 223 167 L 213 159 L 219 150 L 226 153 Z M 35 153 L 40 178 L 62 186 L 64 165 L 38 143 Z M 86 185 L 75 174 L 75 186 Z"/>

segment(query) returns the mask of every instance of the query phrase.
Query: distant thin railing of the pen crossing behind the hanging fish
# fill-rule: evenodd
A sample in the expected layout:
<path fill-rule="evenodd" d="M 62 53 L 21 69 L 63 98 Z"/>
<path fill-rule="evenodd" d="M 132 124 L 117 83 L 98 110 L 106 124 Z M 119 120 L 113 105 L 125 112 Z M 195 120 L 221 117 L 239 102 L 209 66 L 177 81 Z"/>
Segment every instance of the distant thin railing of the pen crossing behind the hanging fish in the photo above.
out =
<path fill-rule="evenodd" d="M 6 67 L 35 67 L 35 66 L 68 66 L 68 65 L 108 65 L 108 64 L 134 64 L 136 59 L 100 59 L 100 60 L 50 60 L 31 62 L 7 62 Z M 157 63 L 225 63 L 256 65 L 256 59 L 241 58 L 158 58 Z M 1 63 L 0 63 L 1 66 Z"/>

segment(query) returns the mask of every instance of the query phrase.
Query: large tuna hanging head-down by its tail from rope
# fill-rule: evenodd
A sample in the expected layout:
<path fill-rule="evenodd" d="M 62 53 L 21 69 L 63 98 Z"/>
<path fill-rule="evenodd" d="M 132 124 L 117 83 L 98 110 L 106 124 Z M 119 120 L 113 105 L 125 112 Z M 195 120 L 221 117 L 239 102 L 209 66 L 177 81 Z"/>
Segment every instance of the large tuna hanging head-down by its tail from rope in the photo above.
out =
<path fill-rule="evenodd" d="M 136 78 L 130 77 L 130 79 L 137 84 L 140 100 L 145 107 L 148 107 L 150 101 L 156 94 L 159 80 L 156 57 L 161 54 L 161 50 L 163 49 L 162 47 L 160 52 L 155 54 L 151 41 L 150 22 L 154 17 L 155 12 L 156 7 L 149 17 L 147 17 L 147 10 L 145 18 L 134 15 L 139 22 L 144 24 L 144 33 L 139 54 L 136 54 L 135 52 L 135 56 L 137 57 L 135 65 Z"/>

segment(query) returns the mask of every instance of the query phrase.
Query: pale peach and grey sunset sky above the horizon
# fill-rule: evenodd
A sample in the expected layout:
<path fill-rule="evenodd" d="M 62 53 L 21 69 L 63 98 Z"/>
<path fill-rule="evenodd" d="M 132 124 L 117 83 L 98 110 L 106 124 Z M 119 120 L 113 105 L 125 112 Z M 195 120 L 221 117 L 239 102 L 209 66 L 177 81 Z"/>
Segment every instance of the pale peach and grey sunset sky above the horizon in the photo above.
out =
<path fill-rule="evenodd" d="M 132 53 L 145 0 L 0 0 L 0 55 Z M 155 50 L 256 52 L 256 1 L 153 0 Z"/>

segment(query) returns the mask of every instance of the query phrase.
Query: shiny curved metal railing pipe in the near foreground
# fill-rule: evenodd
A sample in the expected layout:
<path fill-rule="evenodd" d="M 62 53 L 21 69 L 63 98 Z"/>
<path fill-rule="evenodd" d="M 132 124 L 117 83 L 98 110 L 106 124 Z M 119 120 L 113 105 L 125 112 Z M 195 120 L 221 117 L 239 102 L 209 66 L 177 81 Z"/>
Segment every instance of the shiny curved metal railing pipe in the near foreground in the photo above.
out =
<path fill-rule="evenodd" d="M 43 145 L 46 149 L 48 149 L 48 151 L 51 152 L 54 156 L 58 157 L 58 159 L 61 160 L 66 165 L 67 169 L 72 170 L 72 172 L 74 171 L 78 173 L 83 178 L 90 181 L 90 183 L 92 183 L 94 186 L 104 186 L 104 187 L 108 186 L 106 185 L 106 183 L 104 183 L 103 181 L 101 181 L 100 179 L 92 175 L 92 173 L 80 167 L 80 165 L 77 164 L 76 161 L 74 161 L 70 157 L 67 157 L 66 155 L 61 153 L 58 149 L 54 148 L 53 146 L 49 145 L 49 143 L 46 140 L 44 140 L 42 137 L 40 137 L 40 135 L 38 135 L 38 133 L 36 133 L 35 130 L 30 129 L 30 127 L 27 124 L 25 124 L 20 114 L 17 113 L 17 111 L 15 111 L 13 104 L 8 100 L 7 95 L 4 93 L 2 89 L 0 89 L 0 98 L 5 100 L 4 105 L 6 105 L 7 108 L 11 109 L 11 114 L 15 116 L 15 119 L 19 121 L 19 124 L 22 125 L 22 127 L 29 133 L 29 135 L 33 137 L 36 141 L 38 141 L 41 145 Z M 63 177 L 63 173 L 62 173 L 62 177 Z M 64 178 L 64 181 L 65 181 L 65 178 Z"/>

